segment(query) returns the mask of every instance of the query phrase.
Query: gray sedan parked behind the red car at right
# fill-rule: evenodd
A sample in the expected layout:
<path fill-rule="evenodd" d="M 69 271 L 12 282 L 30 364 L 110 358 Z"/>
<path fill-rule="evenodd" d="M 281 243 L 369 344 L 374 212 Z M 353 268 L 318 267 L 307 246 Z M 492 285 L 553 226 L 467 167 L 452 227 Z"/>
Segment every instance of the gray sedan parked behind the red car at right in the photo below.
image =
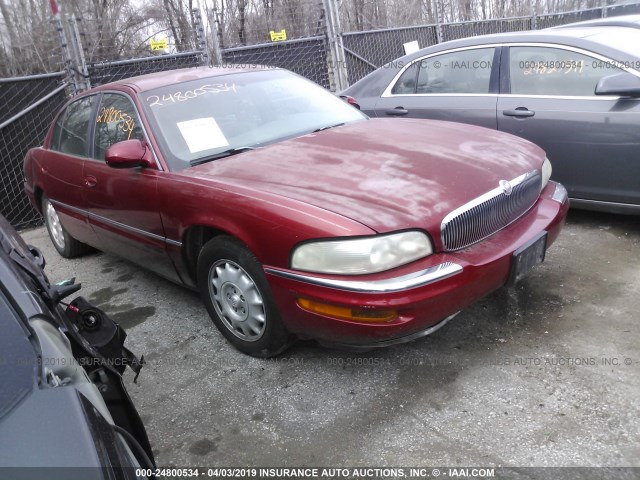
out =
<path fill-rule="evenodd" d="M 640 29 L 486 35 L 401 57 L 341 92 L 370 116 L 463 122 L 546 152 L 573 207 L 640 213 Z M 462 148 L 491 155 L 489 143 Z M 499 158 L 496 158 L 499 161 Z"/>

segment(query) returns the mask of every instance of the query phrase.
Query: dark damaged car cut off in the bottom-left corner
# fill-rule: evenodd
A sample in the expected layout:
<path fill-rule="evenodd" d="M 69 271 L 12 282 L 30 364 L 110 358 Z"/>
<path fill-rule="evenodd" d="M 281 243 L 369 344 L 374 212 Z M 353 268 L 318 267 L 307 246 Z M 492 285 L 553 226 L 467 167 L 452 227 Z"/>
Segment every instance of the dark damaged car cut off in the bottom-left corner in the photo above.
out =
<path fill-rule="evenodd" d="M 122 381 L 143 362 L 44 265 L 0 215 L 0 480 L 147 478 L 153 452 Z"/>

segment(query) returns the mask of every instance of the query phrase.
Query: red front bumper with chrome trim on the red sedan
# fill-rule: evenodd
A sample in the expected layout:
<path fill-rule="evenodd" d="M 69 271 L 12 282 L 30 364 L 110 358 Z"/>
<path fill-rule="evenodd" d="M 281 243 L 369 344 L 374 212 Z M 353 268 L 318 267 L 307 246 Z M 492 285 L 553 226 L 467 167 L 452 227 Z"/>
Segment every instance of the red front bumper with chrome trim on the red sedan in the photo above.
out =
<path fill-rule="evenodd" d="M 386 346 L 431 333 L 443 319 L 505 285 L 513 252 L 543 231 L 548 248 L 560 233 L 568 209 L 564 187 L 549 182 L 524 216 L 457 252 L 437 253 L 390 272 L 358 277 L 271 267 L 265 273 L 282 320 L 292 333 L 342 346 Z M 393 309 L 398 316 L 376 323 L 343 320 L 302 309 L 300 298 L 361 310 Z"/>

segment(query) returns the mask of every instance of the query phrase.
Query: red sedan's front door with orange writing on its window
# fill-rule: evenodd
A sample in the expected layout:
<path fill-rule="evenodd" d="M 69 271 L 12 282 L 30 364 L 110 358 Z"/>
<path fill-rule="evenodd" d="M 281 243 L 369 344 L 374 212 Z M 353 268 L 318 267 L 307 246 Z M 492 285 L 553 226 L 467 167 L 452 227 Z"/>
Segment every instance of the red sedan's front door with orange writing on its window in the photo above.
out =
<path fill-rule="evenodd" d="M 105 163 L 105 152 L 114 143 L 146 140 L 133 102 L 124 93 L 103 93 L 93 123 L 93 150 L 85 162 L 84 183 L 98 247 L 177 280 L 158 208 L 157 182 L 163 172 L 159 167 L 116 169 Z"/>

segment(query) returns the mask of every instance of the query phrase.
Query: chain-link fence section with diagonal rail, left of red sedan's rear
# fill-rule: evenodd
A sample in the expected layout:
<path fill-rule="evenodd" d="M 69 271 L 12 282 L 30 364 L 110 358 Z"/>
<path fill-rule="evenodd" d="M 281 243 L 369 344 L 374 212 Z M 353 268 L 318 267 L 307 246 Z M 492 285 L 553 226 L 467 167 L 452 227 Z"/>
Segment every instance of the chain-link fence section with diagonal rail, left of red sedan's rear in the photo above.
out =
<path fill-rule="evenodd" d="M 17 228 L 37 225 L 40 214 L 24 193 L 22 162 L 42 140 L 65 102 L 64 73 L 0 79 L 0 213 Z"/>

